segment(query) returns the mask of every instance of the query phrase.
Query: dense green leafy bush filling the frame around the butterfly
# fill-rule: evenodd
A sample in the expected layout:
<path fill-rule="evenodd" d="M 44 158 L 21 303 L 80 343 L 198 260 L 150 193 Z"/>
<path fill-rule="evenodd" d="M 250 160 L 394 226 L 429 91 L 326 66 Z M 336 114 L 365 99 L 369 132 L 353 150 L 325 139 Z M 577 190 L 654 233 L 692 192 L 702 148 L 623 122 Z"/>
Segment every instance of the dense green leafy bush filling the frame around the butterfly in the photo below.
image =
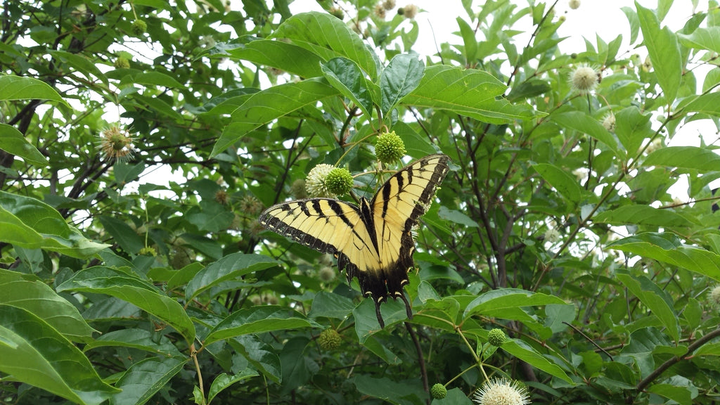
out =
<path fill-rule="evenodd" d="M 460 44 L 423 61 L 405 12 L 320 3 L 4 3 L 0 402 L 424 404 L 439 382 L 434 404 L 469 404 L 497 374 L 537 402 L 711 404 L 720 157 L 665 144 L 720 127 L 718 6 L 680 32 L 672 1 L 624 8 L 643 63 L 622 37 L 562 53 L 557 2 L 464 1 Z M 117 126 L 132 156 L 103 145 Z M 256 218 L 320 163 L 372 195 L 384 130 L 453 165 L 415 316 L 385 303 L 381 330 L 356 282 Z"/>

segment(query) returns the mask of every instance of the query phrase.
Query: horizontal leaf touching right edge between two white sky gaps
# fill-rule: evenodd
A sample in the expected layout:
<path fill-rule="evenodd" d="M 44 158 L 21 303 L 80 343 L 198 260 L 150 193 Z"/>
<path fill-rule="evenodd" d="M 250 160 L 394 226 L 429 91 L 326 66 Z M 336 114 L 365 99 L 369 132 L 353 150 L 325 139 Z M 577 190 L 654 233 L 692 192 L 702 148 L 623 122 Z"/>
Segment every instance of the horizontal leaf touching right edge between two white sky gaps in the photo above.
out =
<path fill-rule="evenodd" d="M 667 146 L 650 153 L 645 159 L 645 165 L 711 172 L 720 167 L 720 155 L 711 149 L 697 146 Z"/>

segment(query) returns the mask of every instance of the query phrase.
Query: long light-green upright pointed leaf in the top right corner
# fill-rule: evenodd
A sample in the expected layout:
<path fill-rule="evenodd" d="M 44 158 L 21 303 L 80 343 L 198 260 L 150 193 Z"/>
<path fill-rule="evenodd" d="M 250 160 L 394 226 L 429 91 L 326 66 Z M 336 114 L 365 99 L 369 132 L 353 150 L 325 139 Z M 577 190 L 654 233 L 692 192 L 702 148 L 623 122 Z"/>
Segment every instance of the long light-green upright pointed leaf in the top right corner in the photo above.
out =
<path fill-rule="evenodd" d="M 652 10 L 644 8 L 637 1 L 635 7 L 657 82 L 665 93 L 667 104 L 672 104 L 678 96 L 680 79 L 683 76 L 678 37 L 668 27 L 660 29 L 660 21 Z"/>

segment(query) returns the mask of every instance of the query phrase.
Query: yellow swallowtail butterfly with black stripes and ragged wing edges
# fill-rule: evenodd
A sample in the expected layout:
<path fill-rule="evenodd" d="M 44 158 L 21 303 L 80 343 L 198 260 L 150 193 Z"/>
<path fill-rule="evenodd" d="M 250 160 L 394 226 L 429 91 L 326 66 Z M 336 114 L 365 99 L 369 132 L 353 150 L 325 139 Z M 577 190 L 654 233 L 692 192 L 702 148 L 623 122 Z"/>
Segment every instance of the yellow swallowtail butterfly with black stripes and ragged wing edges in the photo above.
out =
<path fill-rule="evenodd" d="M 390 296 L 410 303 L 402 293 L 414 267 L 413 227 L 429 207 L 448 172 L 449 158 L 436 154 L 405 166 L 360 206 L 330 198 L 309 198 L 273 205 L 260 215 L 271 231 L 338 259 L 348 283 L 358 277 L 366 297 L 372 295 L 377 321 L 384 328 L 380 304 Z"/>

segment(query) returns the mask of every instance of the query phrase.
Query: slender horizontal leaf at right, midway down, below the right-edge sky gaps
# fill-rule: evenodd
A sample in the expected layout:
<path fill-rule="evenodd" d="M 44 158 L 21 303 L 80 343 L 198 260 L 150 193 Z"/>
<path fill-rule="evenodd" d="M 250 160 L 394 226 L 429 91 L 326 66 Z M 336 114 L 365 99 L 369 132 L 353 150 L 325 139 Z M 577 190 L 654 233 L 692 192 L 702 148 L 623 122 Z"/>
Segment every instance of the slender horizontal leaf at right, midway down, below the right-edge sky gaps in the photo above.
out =
<path fill-rule="evenodd" d="M 688 218 L 671 210 L 659 210 L 647 205 L 625 205 L 615 210 L 607 210 L 593 217 L 595 223 L 612 223 L 613 225 L 648 225 L 667 228 L 692 226 Z"/>

